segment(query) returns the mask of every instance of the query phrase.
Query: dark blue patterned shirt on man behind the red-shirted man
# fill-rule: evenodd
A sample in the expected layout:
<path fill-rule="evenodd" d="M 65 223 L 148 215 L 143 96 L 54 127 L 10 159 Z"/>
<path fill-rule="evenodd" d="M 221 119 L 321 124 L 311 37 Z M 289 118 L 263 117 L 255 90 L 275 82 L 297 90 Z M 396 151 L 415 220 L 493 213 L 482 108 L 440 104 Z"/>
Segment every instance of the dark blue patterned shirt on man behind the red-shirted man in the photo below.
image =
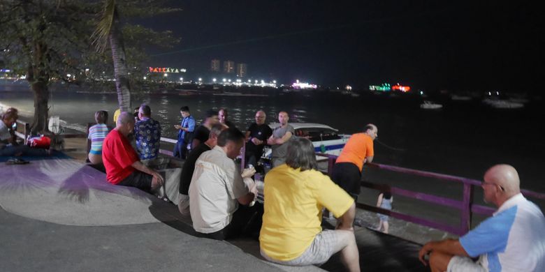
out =
<path fill-rule="evenodd" d="M 140 160 L 157 158 L 161 141 L 159 122 L 151 118 L 137 121 L 134 125 L 134 135 L 136 137 L 136 151 L 140 154 Z"/>

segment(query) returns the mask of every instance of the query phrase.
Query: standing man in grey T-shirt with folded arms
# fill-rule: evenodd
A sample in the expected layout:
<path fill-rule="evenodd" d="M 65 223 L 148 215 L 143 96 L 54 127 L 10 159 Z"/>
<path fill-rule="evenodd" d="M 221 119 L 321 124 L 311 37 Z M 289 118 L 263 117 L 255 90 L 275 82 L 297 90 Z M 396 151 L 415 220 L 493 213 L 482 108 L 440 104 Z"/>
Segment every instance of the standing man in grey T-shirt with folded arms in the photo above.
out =
<path fill-rule="evenodd" d="M 271 154 L 271 163 L 273 164 L 273 167 L 277 167 L 286 162 L 288 141 L 295 133 L 293 126 L 288 123 L 289 115 L 287 112 L 279 112 L 278 121 L 280 126 L 273 130 L 273 135 L 267 140 L 267 144 L 270 144 L 273 148 L 273 153 Z"/>

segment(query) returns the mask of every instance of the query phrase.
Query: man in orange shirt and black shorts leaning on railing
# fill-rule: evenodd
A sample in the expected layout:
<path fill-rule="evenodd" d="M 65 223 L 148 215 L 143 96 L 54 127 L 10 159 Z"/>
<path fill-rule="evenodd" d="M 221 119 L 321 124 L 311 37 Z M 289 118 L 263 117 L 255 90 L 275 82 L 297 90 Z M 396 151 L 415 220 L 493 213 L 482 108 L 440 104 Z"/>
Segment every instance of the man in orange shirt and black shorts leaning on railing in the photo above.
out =
<path fill-rule="evenodd" d="M 371 163 L 375 156 L 373 141 L 378 133 L 377 126 L 370 123 L 363 128 L 363 133 L 352 135 L 333 166 L 333 181 L 356 200 L 361 188 L 361 169 L 364 163 Z"/>

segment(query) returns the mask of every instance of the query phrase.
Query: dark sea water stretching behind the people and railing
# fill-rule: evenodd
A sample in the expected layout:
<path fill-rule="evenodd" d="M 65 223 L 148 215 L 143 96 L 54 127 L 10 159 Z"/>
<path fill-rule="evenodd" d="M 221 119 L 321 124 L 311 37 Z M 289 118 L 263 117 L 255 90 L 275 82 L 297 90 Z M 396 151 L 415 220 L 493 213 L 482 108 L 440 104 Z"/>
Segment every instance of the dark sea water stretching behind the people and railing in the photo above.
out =
<path fill-rule="evenodd" d="M 96 110 L 106 109 L 112 114 L 117 107 L 115 93 L 76 91 L 57 88 L 50 99 L 51 115 L 59 115 L 70 126 L 85 128 L 88 122 L 94 121 Z M 471 179 L 481 179 L 492 165 L 507 163 L 518 170 L 522 188 L 545 192 L 545 141 L 541 133 L 545 108 L 541 101 L 530 101 L 523 109 L 493 109 L 480 99 L 442 99 L 442 109 L 426 110 L 420 109 L 421 98 L 418 97 L 371 93 L 353 97 L 338 92 L 274 91 L 268 97 L 239 97 L 180 96 L 177 91 L 168 91 L 132 97 L 133 107 L 140 103 L 150 105 L 152 117 L 161 122 L 166 137 L 175 137 L 173 126 L 180 122 L 179 109 L 184 105 L 190 107 L 198 121 L 207 109 L 226 107 L 230 120 L 242 129 L 254 121 L 258 109 L 267 113 L 268 123 L 277 121 L 277 112 L 286 111 L 290 122 L 324 123 L 347 134 L 358 132 L 366 123 L 375 123 L 379 128 L 375 163 Z M 24 84 L 0 86 L 1 105 L 17 107 L 23 115 L 30 116 L 34 112 L 33 103 L 32 93 Z M 462 195 L 461 186 L 444 181 L 379 173 L 374 169 L 366 169 L 364 176 L 374 183 L 456 199 Z M 481 195 L 481 189 L 477 188 L 476 202 L 481 202 Z M 375 192 L 364 193 L 363 199 L 375 204 Z M 535 202 L 544 209 L 543 201 Z M 407 209 L 418 211 L 429 204 L 407 205 Z M 451 212 L 439 209 L 437 215 Z"/>

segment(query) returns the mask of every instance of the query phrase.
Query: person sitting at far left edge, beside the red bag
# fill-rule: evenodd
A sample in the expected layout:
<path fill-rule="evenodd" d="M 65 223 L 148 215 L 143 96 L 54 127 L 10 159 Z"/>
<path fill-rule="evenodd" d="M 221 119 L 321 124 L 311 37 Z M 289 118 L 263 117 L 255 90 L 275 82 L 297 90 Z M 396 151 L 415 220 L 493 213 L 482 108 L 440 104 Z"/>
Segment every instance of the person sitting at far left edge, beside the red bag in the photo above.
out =
<path fill-rule="evenodd" d="M 51 149 L 33 149 L 26 144 L 18 144 L 13 124 L 19 118 L 15 107 L 6 109 L 0 121 L 0 156 L 49 156 Z"/>

